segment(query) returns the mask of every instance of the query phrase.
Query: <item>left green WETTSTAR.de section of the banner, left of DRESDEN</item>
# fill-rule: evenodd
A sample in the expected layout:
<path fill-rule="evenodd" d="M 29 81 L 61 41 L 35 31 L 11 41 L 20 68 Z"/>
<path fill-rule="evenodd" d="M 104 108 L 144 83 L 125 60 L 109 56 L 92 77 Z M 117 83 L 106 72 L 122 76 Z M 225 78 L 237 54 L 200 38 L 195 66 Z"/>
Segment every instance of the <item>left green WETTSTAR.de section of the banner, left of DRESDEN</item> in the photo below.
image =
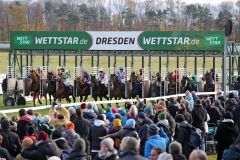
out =
<path fill-rule="evenodd" d="M 88 50 L 92 38 L 87 32 L 11 32 L 11 49 Z"/>

